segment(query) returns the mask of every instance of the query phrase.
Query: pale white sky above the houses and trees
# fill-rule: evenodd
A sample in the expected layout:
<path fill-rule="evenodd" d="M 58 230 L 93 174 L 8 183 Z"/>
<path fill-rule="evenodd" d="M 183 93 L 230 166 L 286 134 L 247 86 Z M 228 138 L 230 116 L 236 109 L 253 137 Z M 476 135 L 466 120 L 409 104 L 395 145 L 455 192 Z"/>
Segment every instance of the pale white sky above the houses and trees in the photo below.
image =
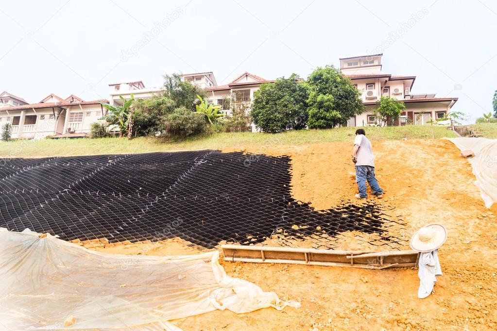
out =
<path fill-rule="evenodd" d="M 306 78 L 339 58 L 383 53 L 412 93 L 458 97 L 469 123 L 497 90 L 491 0 L 0 0 L 0 91 L 109 99 L 108 84 L 161 86 L 173 72 Z"/>

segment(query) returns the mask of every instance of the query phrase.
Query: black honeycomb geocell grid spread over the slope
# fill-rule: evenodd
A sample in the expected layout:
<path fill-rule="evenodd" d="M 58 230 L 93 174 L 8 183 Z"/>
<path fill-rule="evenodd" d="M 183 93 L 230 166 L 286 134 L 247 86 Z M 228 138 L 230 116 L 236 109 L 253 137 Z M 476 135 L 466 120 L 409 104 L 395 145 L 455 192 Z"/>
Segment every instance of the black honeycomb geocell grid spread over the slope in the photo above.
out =
<path fill-rule="evenodd" d="M 282 232 L 333 249 L 330 236 L 357 230 L 378 233 L 372 245 L 406 245 L 387 234 L 404 225 L 384 213 L 389 207 L 344 203 L 318 212 L 293 199 L 289 161 L 212 150 L 11 159 L 0 167 L 0 227 L 111 243 L 180 237 L 205 248 Z"/>

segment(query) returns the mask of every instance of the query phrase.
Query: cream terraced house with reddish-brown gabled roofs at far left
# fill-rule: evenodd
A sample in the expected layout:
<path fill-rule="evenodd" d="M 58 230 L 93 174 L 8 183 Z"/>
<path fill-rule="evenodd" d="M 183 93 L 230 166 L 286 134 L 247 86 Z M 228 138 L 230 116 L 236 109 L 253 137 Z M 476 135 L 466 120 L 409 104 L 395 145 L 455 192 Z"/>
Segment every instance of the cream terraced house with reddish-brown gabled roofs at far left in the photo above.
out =
<path fill-rule="evenodd" d="M 0 126 L 12 125 L 12 138 L 86 136 L 90 124 L 105 114 L 100 104 L 107 100 L 84 101 L 71 94 L 63 99 L 50 94 L 38 103 L 0 108 Z"/>

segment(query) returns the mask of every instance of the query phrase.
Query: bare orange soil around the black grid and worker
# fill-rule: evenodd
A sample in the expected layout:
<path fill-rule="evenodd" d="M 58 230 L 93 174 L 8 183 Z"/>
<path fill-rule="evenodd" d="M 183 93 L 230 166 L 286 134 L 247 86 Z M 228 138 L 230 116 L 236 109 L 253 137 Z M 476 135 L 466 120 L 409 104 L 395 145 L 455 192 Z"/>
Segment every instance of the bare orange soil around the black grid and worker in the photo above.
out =
<path fill-rule="evenodd" d="M 247 146 L 244 151 L 291 156 L 293 197 L 317 210 L 357 193 L 350 143 Z M 419 279 L 413 268 L 222 261 L 230 276 L 297 300 L 302 307 L 240 315 L 215 311 L 172 322 L 183 330 L 496 330 L 497 205 L 485 207 L 470 164 L 443 139 L 373 141 L 373 151 L 376 177 L 385 190 L 381 202 L 394 206 L 394 216 L 407 222 L 404 235 L 410 237 L 432 222 L 447 228 L 447 242 L 439 250 L 444 274 L 437 278 L 434 294 L 417 298 Z M 342 233 L 337 240 L 354 248 L 352 238 L 354 233 Z M 180 240 L 104 246 L 92 249 L 150 255 L 198 252 Z"/>

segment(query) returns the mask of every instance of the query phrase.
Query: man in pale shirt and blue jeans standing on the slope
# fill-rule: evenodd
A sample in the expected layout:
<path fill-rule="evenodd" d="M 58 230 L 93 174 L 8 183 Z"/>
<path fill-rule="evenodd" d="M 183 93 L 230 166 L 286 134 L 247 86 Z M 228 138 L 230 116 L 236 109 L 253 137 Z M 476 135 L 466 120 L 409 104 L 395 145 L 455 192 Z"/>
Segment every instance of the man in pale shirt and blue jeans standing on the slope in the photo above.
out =
<path fill-rule="evenodd" d="M 366 199 L 366 180 L 371 190 L 378 198 L 383 198 L 383 190 L 378 185 L 374 176 L 374 156 L 371 142 L 366 138 L 364 129 L 357 129 L 355 132 L 354 149 L 352 151 L 352 161 L 355 163 L 355 181 L 359 188 L 357 199 Z"/>

